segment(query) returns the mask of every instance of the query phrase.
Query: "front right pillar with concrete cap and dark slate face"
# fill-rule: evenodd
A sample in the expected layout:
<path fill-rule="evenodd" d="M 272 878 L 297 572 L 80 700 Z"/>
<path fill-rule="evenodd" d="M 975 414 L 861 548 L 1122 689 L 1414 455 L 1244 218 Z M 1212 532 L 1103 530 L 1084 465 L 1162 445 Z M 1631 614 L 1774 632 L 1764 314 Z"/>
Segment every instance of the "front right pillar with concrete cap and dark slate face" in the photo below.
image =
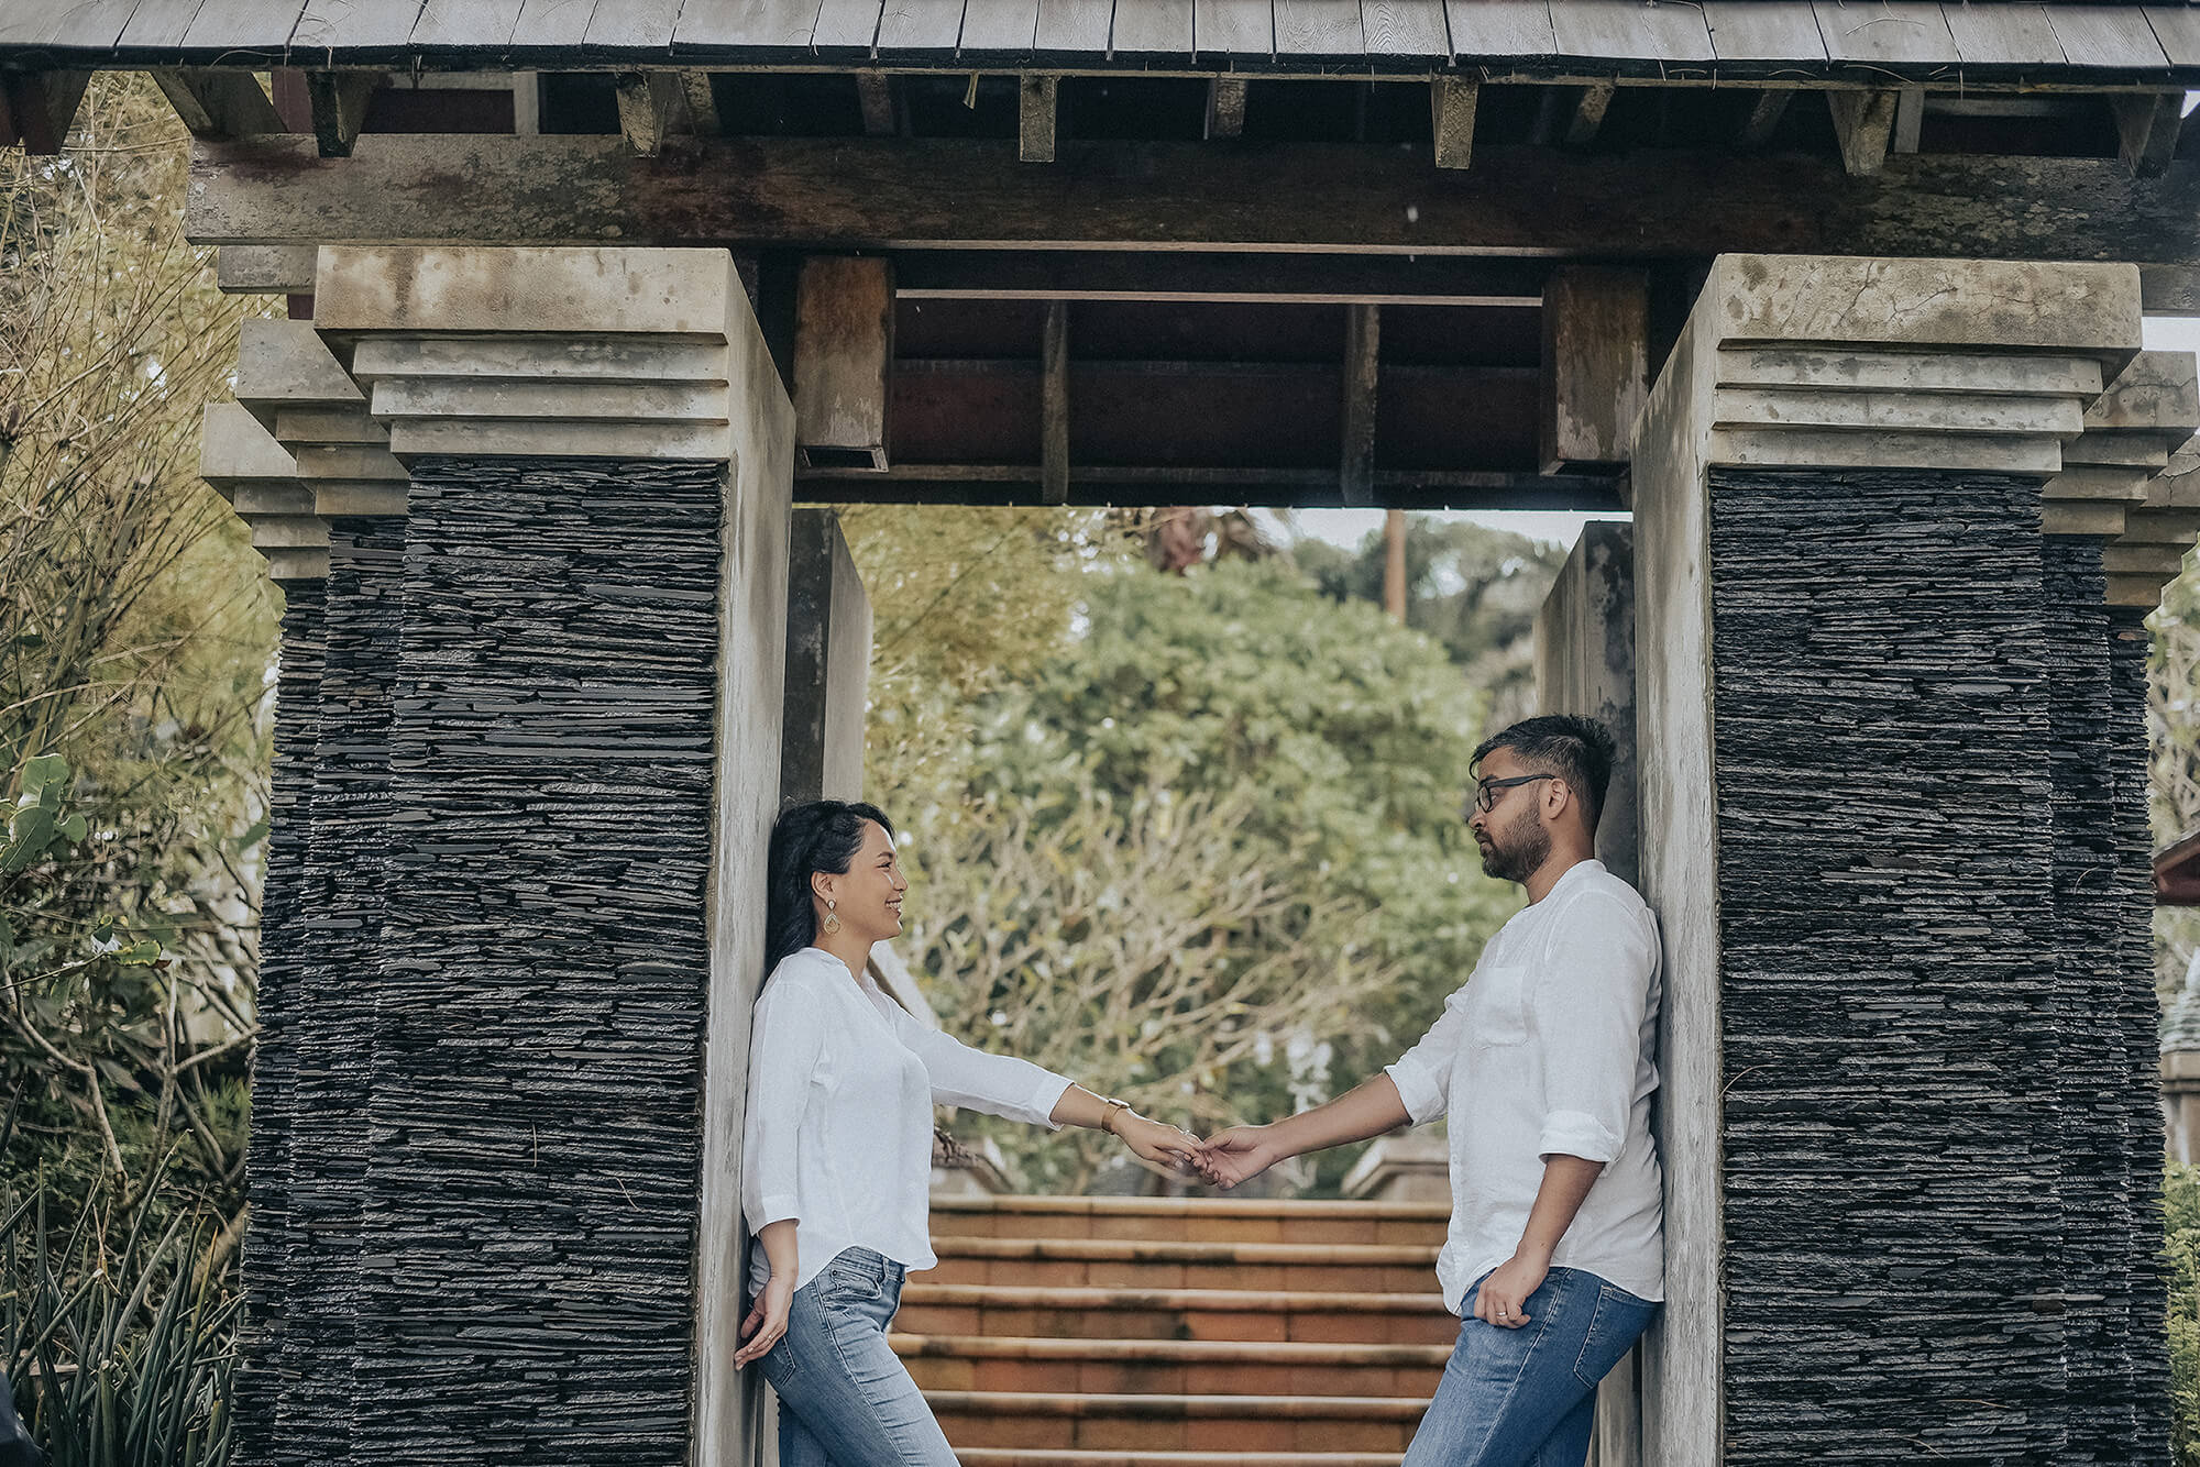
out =
<path fill-rule="evenodd" d="M 2158 1331 L 2134 1328 L 2136 1293 L 2066 1271 L 2119 1236 L 2125 1262 L 2152 1251 L 2070 1227 L 2066 1194 L 2090 1168 L 2138 1185 L 2127 1146 L 2097 1157 L 2077 1130 L 2127 1137 L 2154 1098 L 2114 1023 L 2068 1025 L 2061 948 L 2094 902 L 2057 880 L 2053 812 L 2101 805 L 2059 759 L 2079 695 L 2055 671 L 2103 622 L 2064 614 L 2083 587 L 2042 537 L 2042 486 L 2136 348 L 2125 266 L 1723 257 L 1652 391 L 1632 473 L 1637 636 L 1659 649 L 1643 889 L 1668 944 L 1650 1463 L 2143 1454 L 2130 1381 Z M 2141 737 L 2083 699 L 2103 741 Z M 2110 950 L 2105 985 L 2130 983 Z M 2066 1043 L 2083 1076 L 2059 1073 Z M 2072 1326 L 2110 1353 L 2079 1359 Z M 2079 1410 L 2103 1377 L 2121 1405 Z"/>

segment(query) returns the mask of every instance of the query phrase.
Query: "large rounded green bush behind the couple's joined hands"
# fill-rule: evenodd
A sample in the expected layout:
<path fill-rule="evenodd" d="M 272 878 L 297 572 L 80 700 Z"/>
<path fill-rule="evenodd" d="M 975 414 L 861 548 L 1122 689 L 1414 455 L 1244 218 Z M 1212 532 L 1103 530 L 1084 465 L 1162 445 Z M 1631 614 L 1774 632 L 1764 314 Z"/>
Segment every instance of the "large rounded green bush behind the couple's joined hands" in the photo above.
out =
<path fill-rule="evenodd" d="M 1082 589 L 1076 636 L 968 704 L 966 783 L 909 816 L 928 878 L 911 966 L 972 1043 L 1023 1036 L 1164 1115 L 1327 1100 L 1419 1036 L 1516 906 L 1459 814 L 1481 699 L 1430 638 L 1283 563 L 1115 567 Z M 1162 829 L 1157 812 L 1181 814 Z M 1003 836 L 1038 856 L 1008 860 Z M 1148 941 L 1109 968 L 1126 1010 L 1032 1023 L 1038 990 L 1089 966 L 1043 930 L 1071 891 L 1082 941 Z M 1034 1185 L 1087 1179 L 1107 1148 L 997 1139 Z"/>

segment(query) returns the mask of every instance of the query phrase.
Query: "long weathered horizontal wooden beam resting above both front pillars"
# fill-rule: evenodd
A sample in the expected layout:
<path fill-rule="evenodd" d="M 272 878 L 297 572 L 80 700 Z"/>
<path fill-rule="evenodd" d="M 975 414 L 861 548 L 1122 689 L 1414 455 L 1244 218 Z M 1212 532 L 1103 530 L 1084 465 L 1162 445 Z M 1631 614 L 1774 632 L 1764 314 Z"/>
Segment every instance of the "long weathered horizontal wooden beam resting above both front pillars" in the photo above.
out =
<path fill-rule="evenodd" d="M 713 244 L 726 249 L 1267 251 L 1709 260 L 1718 253 L 2112 260 L 2147 308 L 2200 301 L 2200 161 L 1905 154 L 1868 178 L 1804 156 L 1485 147 L 1432 187 L 1428 154 L 1298 145 L 370 134 L 191 143 L 202 244 Z M 1553 198 L 1597 200 L 1553 209 Z"/>

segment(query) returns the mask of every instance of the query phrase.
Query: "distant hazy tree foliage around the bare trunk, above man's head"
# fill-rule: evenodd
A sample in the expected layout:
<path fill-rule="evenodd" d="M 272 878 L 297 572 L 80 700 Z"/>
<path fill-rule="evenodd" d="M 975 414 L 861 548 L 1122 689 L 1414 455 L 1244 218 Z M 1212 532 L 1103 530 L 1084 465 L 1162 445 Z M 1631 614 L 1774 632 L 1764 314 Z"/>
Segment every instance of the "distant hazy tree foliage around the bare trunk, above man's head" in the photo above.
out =
<path fill-rule="evenodd" d="M 1327 596 L 1382 605 L 1382 530 L 1357 550 L 1302 541 L 1291 554 Z M 1525 534 L 1406 519 L 1406 625 L 1437 638 L 1467 682 L 1489 695 L 1492 726 L 1536 710 L 1536 611 L 1564 563 L 1562 548 Z"/>

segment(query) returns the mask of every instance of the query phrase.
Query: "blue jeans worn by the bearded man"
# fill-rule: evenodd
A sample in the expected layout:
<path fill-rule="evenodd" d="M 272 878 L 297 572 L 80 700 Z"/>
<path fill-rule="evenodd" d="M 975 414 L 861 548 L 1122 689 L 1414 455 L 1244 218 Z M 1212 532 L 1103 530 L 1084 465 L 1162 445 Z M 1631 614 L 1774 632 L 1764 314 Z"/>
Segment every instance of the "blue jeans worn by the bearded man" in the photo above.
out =
<path fill-rule="evenodd" d="M 1487 1278 L 1487 1276 L 1485 1276 Z M 1580 1269 L 1551 1269 L 1527 1295 L 1527 1324 L 1474 1317 L 1476 1278 L 1437 1399 L 1404 1467 L 1582 1467 L 1597 1381 L 1650 1324 L 1657 1304 Z"/>

